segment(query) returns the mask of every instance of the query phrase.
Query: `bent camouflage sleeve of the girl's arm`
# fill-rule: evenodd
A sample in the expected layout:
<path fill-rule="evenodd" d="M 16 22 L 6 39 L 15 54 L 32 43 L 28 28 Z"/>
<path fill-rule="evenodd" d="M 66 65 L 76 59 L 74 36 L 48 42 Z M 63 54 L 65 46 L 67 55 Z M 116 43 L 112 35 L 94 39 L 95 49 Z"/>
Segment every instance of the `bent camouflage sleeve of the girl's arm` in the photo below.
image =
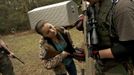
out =
<path fill-rule="evenodd" d="M 62 62 L 62 60 L 66 57 L 66 55 L 64 55 L 63 53 L 60 53 L 54 57 L 48 58 L 47 49 L 44 46 L 42 46 L 43 43 L 44 42 L 40 42 L 41 51 L 40 51 L 39 56 L 43 61 L 44 67 L 46 69 L 52 69 L 56 67 L 57 65 L 59 65 Z"/>

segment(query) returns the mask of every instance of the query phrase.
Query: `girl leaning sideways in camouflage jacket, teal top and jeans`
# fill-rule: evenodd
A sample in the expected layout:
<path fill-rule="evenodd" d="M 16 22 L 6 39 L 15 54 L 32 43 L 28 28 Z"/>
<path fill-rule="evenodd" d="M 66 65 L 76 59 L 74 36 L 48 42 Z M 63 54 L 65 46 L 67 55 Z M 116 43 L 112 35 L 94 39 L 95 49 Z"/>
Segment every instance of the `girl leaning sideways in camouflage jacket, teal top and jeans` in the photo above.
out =
<path fill-rule="evenodd" d="M 35 30 L 43 37 L 40 41 L 42 48 L 40 58 L 45 68 L 53 69 L 56 75 L 66 75 L 64 68 L 69 75 L 77 75 L 71 56 L 75 50 L 69 32 L 43 20 L 37 23 Z"/>

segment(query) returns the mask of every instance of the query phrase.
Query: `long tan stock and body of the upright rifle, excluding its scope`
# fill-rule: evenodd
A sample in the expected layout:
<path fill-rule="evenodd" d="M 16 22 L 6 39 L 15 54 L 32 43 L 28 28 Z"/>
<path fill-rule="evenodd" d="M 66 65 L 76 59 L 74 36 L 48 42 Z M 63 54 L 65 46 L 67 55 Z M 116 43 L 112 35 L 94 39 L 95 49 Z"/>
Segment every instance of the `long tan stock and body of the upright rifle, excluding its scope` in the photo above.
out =
<path fill-rule="evenodd" d="M 86 54 L 86 65 L 85 65 L 85 75 L 95 75 L 95 60 L 91 57 L 90 53 L 92 52 L 92 42 L 91 33 L 89 31 L 90 25 L 88 23 L 89 17 L 87 16 L 87 2 L 82 0 L 82 9 L 83 9 L 83 28 L 84 28 L 84 42 L 85 42 L 85 54 Z"/>

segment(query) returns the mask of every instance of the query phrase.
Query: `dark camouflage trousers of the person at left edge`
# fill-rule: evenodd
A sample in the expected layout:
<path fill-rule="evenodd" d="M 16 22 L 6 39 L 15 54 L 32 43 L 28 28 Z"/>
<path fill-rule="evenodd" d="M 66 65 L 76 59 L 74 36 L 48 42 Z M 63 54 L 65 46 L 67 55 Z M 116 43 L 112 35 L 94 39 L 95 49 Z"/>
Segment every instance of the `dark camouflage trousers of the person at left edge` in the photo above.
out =
<path fill-rule="evenodd" d="M 15 75 L 11 60 L 7 55 L 0 54 L 0 73 L 2 75 Z"/>

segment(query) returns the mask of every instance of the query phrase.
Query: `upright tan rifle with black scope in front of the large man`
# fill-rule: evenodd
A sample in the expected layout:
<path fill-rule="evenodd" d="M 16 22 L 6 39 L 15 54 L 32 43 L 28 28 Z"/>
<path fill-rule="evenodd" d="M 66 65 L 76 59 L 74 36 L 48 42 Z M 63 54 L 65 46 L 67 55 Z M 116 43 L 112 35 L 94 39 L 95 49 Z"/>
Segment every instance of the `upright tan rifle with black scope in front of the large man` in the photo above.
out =
<path fill-rule="evenodd" d="M 98 44 L 98 37 L 96 33 L 95 10 L 94 6 L 88 7 L 85 0 L 82 0 L 82 6 L 84 15 L 83 28 L 86 54 L 85 75 L 95 75 L 95 60 L 91 57 L 93 50 L 97 49 Z M 90 16 L 87 15 L 88 8 L 90 11 Z"/>

